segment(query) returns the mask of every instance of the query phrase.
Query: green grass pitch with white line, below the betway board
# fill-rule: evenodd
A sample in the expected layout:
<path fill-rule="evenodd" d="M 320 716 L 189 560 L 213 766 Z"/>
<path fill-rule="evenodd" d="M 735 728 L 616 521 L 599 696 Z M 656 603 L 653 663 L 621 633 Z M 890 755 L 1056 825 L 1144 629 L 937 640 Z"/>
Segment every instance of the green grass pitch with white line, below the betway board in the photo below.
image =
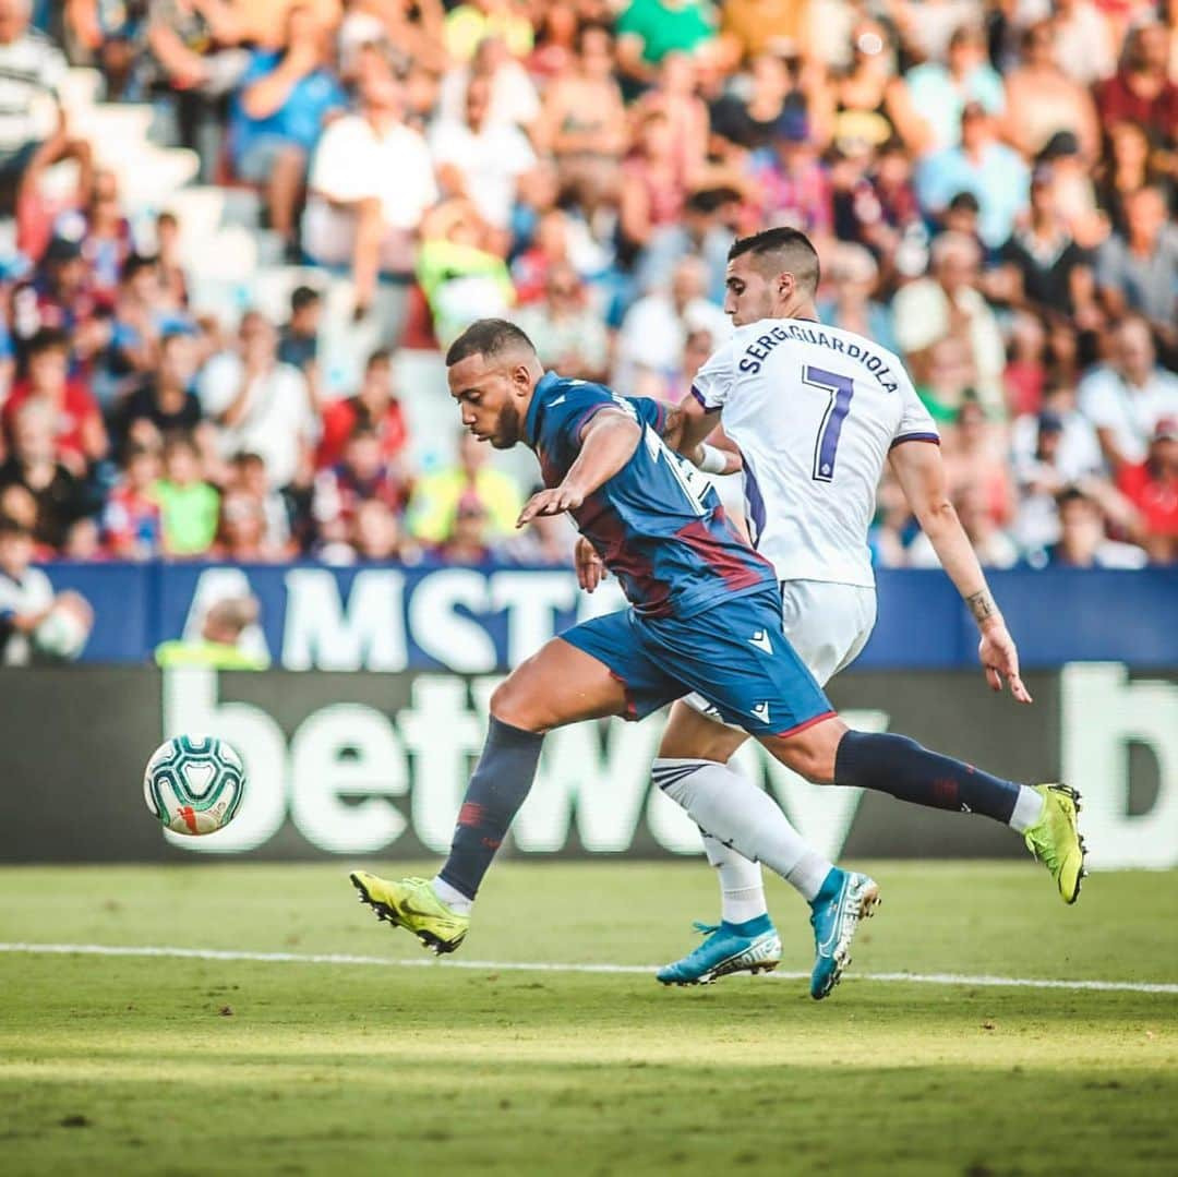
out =
<path fill-rule="evenodd" d="M 379 869 L 379 865 L 375 865 Z M 729 978 L 0 952 L 0 1170 L 1172 1173 L 1178 996 L 863 974 L 1178 980 L 1178 872 L 871 864 L 834 996 Z M 0 940 L 426 959 L 340 866 L 0 869 Z M 399 869 L 397 873 L 402 873 Z M 456 959 L 656 964 L 702 865 L 503 862 Z M 782 971 L 806 911 L 770 888 Z"/>

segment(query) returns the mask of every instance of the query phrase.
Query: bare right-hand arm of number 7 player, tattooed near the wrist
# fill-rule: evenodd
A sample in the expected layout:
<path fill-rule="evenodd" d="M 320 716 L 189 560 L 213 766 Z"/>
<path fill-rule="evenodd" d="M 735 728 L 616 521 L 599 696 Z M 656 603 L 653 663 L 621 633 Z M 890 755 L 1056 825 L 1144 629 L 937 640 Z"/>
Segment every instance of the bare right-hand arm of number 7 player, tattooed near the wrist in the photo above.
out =
<path fill-rule="evenodd" d="M 978 656 L 987 681 L 994 690 L 1001 690 L 1006 679 L 1011 694 L 1020 703 L 1030 703 L 1031 694 L 1019 677 L 1019 652 L 1014 639 L 1006 628 L 969 537 L 949 501 L 940 449 L 924 441 L 902 442 L 893 448 L 891 463 L 941 567 L 978 623 L 981 632 Z"/>

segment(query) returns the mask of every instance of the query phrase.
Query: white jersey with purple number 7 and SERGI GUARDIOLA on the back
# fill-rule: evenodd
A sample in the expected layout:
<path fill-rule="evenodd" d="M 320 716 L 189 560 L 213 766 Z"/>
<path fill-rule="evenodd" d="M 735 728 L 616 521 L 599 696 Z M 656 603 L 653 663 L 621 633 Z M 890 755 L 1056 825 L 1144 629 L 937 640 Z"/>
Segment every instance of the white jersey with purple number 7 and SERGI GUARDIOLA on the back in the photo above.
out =
<path fill-rule="evenodd" d="M 762 319 L 736 329 L 691 391 L 723 410 L 749 531 L 777 578 L 873 587 L 867 529 L 888 451 L 940 441 L 900 359 L 853 331 Z"/>

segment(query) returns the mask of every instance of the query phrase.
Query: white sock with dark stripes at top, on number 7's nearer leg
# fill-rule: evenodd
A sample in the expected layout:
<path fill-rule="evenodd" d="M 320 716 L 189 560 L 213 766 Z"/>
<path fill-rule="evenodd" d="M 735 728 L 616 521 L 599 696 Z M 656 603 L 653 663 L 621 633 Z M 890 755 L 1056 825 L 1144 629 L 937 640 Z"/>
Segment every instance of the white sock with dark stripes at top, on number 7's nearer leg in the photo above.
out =
<path fill-rule="evenodd" d="M 781 807 L 750 780 L 712 760 L 660 758 L 655 783 L 717 842 L 763 862 L 810 902 L 832 864 L 812 851 Z"/>

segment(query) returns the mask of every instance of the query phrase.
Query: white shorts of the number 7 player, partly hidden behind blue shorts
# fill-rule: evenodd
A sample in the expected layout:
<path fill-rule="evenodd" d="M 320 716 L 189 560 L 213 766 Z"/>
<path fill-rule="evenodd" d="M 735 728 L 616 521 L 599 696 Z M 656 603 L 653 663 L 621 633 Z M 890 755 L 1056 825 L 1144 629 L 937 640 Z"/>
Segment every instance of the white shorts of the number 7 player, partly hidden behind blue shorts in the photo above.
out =
<path fill-rule="evenodd" d="M 872 636 L 875 589 L 833 581 L 782 581 L 781 628 L 818 685 L 825 687 L 859 657 Z M 683 702 L 723 722 L 702 695 L 684 695 Z"/>

